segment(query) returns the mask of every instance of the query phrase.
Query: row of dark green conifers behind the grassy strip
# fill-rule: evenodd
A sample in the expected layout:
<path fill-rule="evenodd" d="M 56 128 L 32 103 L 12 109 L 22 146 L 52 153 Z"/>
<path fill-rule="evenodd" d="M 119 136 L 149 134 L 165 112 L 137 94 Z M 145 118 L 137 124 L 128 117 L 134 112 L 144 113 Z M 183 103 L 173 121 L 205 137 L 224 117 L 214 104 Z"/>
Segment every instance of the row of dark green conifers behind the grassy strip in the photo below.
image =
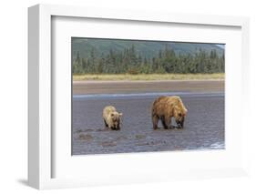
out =
<path fill-rule="evenodd" d="M 176 54 L 169 47 L 159 50 L 152 58 L 142 57 L 135 46 L 123 51 L 109 50 L 98 56 L 95 49 L 87 57 L 79 52 L 73 58 L 74 74 L 196 74 L 224 72 L 225 56 L 215 49 L 206 52 L 199 49 L 195 54 Z"/>

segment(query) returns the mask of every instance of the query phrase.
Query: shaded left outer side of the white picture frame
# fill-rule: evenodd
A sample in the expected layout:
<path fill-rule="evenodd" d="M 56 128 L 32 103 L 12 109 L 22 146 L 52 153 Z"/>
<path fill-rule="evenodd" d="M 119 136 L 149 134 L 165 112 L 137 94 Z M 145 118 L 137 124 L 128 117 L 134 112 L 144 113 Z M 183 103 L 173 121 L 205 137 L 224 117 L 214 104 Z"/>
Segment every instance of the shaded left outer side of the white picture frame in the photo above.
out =
<path fill-rule="evenodd" d="M 39 189 L 39 5 L 28 8 L 28 185 Z"/>

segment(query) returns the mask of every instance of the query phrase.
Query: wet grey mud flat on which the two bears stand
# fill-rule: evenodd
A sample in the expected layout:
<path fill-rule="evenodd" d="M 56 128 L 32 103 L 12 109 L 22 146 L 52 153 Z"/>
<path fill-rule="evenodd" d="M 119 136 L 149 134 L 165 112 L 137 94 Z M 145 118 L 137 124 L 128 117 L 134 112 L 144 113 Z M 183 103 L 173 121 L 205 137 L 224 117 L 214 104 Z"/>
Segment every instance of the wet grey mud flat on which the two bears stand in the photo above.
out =
<path fill-rule="evenodd" d="M 170 96 L 171 94 L 169 94 Z M 188 108 L 185 128 L 153 130 L 151 105 L 161 93 L 73 96 L 72 154 L 225 148 L 224 93 L 177 93 Z M 121 130 L 105 128 L 102 110 L 123 113 Z M 172 121 L 172 125 L 176 125 Z"/>

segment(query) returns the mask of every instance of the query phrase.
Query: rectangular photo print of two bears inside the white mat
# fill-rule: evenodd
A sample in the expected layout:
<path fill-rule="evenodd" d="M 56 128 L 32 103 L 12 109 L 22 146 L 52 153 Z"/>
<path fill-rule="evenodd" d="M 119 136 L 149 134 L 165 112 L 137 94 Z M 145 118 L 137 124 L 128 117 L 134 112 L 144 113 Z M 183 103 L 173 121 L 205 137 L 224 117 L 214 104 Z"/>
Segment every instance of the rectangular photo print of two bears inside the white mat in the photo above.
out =
<path fill-rule="evenodd" d="M 225 148 L 225 45 L 72 37 L 72 155 Z"/>

